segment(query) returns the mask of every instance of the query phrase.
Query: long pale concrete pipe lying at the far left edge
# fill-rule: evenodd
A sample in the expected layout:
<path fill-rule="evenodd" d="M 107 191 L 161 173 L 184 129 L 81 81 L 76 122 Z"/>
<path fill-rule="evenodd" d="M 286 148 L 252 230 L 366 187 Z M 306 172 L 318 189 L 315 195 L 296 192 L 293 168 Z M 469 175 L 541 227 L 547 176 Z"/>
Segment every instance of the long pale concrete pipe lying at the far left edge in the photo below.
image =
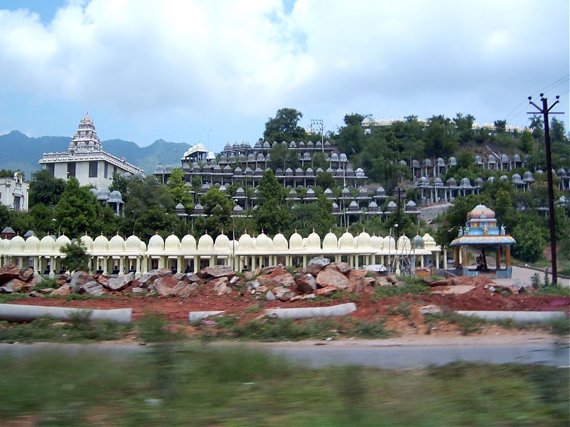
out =
<path fill-rule="evenodd" d="M 55 317 L 59 320 L 71 320 L 71 313 L 85 312 L 83 308 L 43 307 L 41 305 L 0 304 L 0 320 L 10 322 L 31 322 L 43 316 Z M 113 310 L 88 310 L 89 320 L 110 320 L 127 324 L 131 322 L 132 308 L 117 308 Z"/>

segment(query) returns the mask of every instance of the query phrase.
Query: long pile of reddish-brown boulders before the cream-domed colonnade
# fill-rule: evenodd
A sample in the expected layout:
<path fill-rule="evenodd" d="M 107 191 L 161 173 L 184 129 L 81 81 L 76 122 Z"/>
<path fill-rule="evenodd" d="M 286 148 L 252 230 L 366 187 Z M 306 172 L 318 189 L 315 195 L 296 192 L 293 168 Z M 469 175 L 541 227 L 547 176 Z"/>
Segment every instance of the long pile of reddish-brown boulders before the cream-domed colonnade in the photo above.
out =
<path fill-rule="evenodd" d="M 27 292 L 33 297 L 66 296 L 72 293 L 94 296 L 110 292 L 188 298 L 207 285 L 218 296 L 232 292 L 249 293 L 267 301 L 308 300 L 346 290 L 359 296 L 370 296 L 375 286 L 403 284 L 395 276 L 379 276 L 367 270 L 353 269 L 348 263 L 331 263 L 327 258 L 313 258 L 303 270 L 290 273 L 283 265 L 258 268 L 238 276 L 226 265 L 203 268 L 198 273 L 172 273 L 167 268 L 152 270 L 135 279 L 134 273 L 119 277 L 77 271 L 60 275 L 57 286 L 42 288 L 45 280 L 32 269 L 19 270 L 17 265 L 0 268 L 0 293 Z M 53 285 L 53 280 L 48 283 Z M 202 288 L 201 288 L 202 289 Z"/>

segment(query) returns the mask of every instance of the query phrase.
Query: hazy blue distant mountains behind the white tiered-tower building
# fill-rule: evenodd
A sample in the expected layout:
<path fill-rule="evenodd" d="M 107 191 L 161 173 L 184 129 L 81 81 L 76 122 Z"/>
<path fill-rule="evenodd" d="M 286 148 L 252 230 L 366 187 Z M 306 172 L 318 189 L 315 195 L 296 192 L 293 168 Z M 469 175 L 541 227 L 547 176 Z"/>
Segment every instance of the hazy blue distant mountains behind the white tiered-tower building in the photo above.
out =
<path fill-rule="evenodd" d="M 0 169 L 20 170 L 29 181 L 31 174 L 41 169 L 38 161 L 43 153 L 66 152 L 70 141 L 71 137 L 31 138 L 17 130 L 0 135 Z M 180 157 L 190 148 L 190 144 L 166 142 L 164 139 L 157 139 L 147 147 L 139 147 L 123 139 L 109 139 L 101 141 L 101 144 L 106 152 L 119 158 L 124 156 L 127 162 L 143 169 L 146 175 L 155 172 L 159 163 L 180 167 Z"/>

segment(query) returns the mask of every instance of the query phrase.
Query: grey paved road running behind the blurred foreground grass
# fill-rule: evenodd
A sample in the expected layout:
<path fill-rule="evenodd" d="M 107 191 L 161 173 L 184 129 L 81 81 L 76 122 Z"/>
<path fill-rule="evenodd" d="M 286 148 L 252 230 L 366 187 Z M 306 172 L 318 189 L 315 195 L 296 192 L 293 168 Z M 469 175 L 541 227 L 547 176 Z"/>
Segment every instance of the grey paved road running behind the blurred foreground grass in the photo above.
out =
<path fill-rule="evenodd" d="M 356 364 L 383 369 L 413 369 L 451 362 L 504 364 L 548 364 L 570 366 L 568 337 L 450 337 L 445 339 L 341 340 L 280 343 L 216 342 L 216 347 L 244 346 L 282 355 L 306 367 L 332 364 Z M 129 357 L 147 352 L 149 346 L 137 344 L 0 344 L 1 354 L 25 357 L 28 354 L 56 350 L 67 354 L 100 352 Z"/>

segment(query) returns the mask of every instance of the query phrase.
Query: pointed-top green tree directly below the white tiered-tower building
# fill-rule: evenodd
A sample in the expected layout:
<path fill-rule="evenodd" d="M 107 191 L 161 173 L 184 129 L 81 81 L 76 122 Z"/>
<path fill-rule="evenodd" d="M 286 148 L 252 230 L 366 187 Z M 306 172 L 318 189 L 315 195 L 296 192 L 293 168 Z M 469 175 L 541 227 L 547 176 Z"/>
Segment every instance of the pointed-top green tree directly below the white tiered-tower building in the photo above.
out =
<path fill-rule="evenodd" d="M 56 220 L 61 230 L 71 236 L 81 236 L 86 231 L 94 232 L 97 204 L 89 187 L 79 186 L 79 181 L 71 176 L 55 210 Z"/>

